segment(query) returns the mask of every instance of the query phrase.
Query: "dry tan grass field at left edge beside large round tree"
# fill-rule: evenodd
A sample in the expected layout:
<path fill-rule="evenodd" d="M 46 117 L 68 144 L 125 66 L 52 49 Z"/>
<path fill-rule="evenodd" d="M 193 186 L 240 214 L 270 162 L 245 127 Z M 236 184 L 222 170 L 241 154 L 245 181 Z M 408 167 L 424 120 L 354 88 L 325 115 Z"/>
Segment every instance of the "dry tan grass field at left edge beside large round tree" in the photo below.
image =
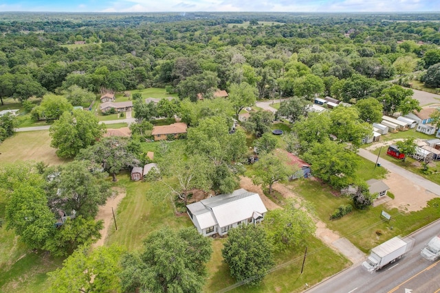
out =
<path fill-rule="evenodd" d="M 56 156 L 50 147 L 48 130 L 17 132 L 0 144 L 0 165 L 15 161 L 43 161 L 48 165 L 60 165 L 69 160 Z"/>

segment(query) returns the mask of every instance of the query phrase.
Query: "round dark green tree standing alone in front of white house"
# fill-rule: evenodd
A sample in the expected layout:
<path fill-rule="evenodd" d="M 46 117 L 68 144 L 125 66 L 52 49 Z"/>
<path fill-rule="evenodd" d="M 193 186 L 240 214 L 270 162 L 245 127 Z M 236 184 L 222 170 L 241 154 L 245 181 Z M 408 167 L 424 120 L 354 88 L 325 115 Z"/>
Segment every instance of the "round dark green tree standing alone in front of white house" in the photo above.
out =
<path fill-rule="evenodd" d="M 267 270 L 274 266 L 272 246 L 265 230 L 252 224 L 230 230 L 221 255 L 231 276 L 250 286 L 259 285 Z"/>

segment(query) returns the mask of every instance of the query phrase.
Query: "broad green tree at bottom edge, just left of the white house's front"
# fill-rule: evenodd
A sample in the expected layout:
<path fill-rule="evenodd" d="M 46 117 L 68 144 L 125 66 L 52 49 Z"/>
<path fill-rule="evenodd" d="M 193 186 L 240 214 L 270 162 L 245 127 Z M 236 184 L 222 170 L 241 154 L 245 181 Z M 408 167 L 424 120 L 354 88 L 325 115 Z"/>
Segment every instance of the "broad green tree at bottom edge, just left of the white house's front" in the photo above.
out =
<path fill-rule="evenodd" d="M 139 254 L 122 259 L 120 274 L 125 292 L 202 292 L 211 241 L 195 228 L 162 228 L 148 235 Z"/>

